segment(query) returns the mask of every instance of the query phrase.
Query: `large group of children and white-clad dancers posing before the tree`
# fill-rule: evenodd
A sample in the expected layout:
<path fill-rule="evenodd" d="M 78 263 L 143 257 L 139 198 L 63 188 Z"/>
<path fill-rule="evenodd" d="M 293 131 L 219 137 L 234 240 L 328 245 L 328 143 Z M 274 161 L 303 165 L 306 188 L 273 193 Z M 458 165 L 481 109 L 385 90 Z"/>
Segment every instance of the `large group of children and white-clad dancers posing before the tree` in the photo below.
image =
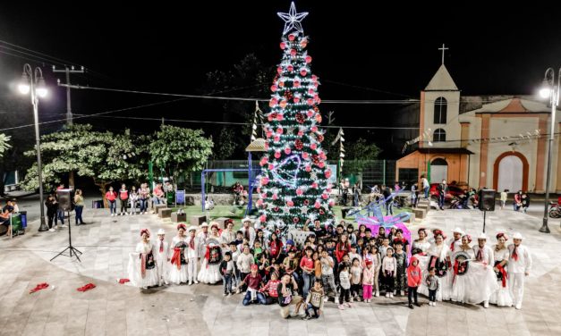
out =
<path fill-rule="evenodd" d="M 420 306 L 418 292 L 429 298 L 429 306 L 452 300 L 520 309 L 524 276 L 531 270 L 520 233 L 514 233 L 511 245 L 498 233 L 491 247 L 485 234 L 472 245 L 472 237 L 459 228 L 449 240 L 443 231 L 433 230 L 429 239 L 420 229 L 418 239 L 409 241 L 401 229 L 372 232 L 344 222 L 327 228 L 315 221 L 299 243 L 252 224 L 245 218 L 234 231 L 232 220 L 224 229 L 215 222 L 189 228 L 180 223 L 169 244 L 165 231 L 150 240 L 143 230 L 131 255 L 132 283 L 148 288 L 222 281 L 225 296 L 243 293 L 244 306 L 277 304 L 284 318 L 293 310 L 292 316 L 310 319 L 330 301 L 344 310 L 356 302 L 406 296 L 413 308 Z"/>

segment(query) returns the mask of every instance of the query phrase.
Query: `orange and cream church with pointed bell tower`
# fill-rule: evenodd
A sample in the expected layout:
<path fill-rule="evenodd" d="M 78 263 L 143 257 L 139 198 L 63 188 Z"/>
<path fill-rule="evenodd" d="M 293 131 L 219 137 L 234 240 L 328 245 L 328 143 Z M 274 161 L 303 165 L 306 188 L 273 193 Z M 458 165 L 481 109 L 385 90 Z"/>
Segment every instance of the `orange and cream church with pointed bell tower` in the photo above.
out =
<path fill-rule="evenodd" d="M 475 189 L 545 191 L 551 107 L 538 97 L 462 96 L 444 64 L 421 91 L 416 149 L 397 161 L 397 181 L 446 180 Z M 549 190 L 561 192 L 561 116 L 556 113 Z"/>

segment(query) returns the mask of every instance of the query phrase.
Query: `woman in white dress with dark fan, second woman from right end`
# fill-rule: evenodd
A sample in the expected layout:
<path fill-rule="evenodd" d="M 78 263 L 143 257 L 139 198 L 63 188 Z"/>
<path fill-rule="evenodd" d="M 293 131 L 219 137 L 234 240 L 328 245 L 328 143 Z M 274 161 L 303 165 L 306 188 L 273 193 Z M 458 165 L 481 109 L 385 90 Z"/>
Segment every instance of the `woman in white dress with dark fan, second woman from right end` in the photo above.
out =
<path fill-rule="evenodd" d="M 452 270 L 454 275 L 452 277 L 452 292 L 450 299 L 455 302 L 467 302 L 467 294 L 471 290 L 467 275 L 469 267 L 471 266 L 470 260 L 473 259 L 474 253 L 470 246 L 472 236 L 464 234 L 462 236 L 462 245 L 457 246 L 454 253 L 451 255 Z"/>

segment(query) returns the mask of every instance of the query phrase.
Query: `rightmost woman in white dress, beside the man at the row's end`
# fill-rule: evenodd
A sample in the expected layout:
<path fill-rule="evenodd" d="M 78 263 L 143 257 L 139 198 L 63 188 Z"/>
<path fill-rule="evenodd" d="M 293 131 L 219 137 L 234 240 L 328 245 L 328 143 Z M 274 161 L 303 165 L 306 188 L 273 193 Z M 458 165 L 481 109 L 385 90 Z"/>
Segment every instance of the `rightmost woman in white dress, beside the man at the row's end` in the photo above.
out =
<path fill-rule="evenodd" d="M 497 274 L 498 290 L 496 290 L 489 298 L 489 302 L 497 306 L 511 307 L 513 298 L 508 290 L 508 273 L 506 272 L 506 264 L 508 264 L 508 248 L 506 247 L 506 234 L 497 233 L 497 245 L 493 248 L 495 252 L 495 267 L 493 270 Z"/>

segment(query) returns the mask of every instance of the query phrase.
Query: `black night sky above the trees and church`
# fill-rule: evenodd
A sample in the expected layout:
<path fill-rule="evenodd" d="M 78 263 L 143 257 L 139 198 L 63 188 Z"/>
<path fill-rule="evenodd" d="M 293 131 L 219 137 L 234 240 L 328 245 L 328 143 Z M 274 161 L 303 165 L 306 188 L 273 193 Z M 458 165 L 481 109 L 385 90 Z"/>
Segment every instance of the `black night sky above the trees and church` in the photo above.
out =
<path fill-rule="evenodd" d="M 243 55 L 255 53 L 264 64 L 278 63 L 284 22 L 276 12 L 287 12 L 290 5 L 287 0 L 116 3 L 40 7 L 23 2 L 2 4 L 0 39 L 83 64 L 93 72 L 72 77 L 79 84 L 200 93 L 205 73 L 230 69 Z M 463 94 L 531 94 L 548 66 L 561 65 L 558 11 L 522 8 L 514 3 L 493 9 L 488 4 L 455 3 L 452 8 L 449 2 L 442 6 L 424 3 L 421 7 L 404 2 L 382 5 L 300 0 L 296 8 L 310 13 L 302 25 L 310 36 L 312 71 L 322 81 L 319 94 L 324 100 L 418 98 L 438 70 L 438 47 L 442 43 L 450 48 L 446 67 Z M 0 75 L 7 83 L 21 76 L 22 63 L 29 61 L 5 53 L 13 52 L 0 43 Z M 46 66 L 47 78 L 54 85 L 55 78 L 62 76 L 54 77 Z M 58 113 L 64 113 L 64 89 L 57 90 L 51 101 L 42 103 L 42 120 L 63 115 Z M 72 92 L 75 113 L 168 99 L 91 90 Z M 252 109 L 251 105 L 248 108 Z M 337 124 L 387 124 L 387 106 L 320 108 L 324 113 L 336 111 Z M 212 111 L 201 113 L 197 99 L 115 115 L 139 113 L 178 119 L 214 118 Z M 125 125 L 139 130 L 149 127 L 123 120 L 103 123 L 112 130 Z"/>

